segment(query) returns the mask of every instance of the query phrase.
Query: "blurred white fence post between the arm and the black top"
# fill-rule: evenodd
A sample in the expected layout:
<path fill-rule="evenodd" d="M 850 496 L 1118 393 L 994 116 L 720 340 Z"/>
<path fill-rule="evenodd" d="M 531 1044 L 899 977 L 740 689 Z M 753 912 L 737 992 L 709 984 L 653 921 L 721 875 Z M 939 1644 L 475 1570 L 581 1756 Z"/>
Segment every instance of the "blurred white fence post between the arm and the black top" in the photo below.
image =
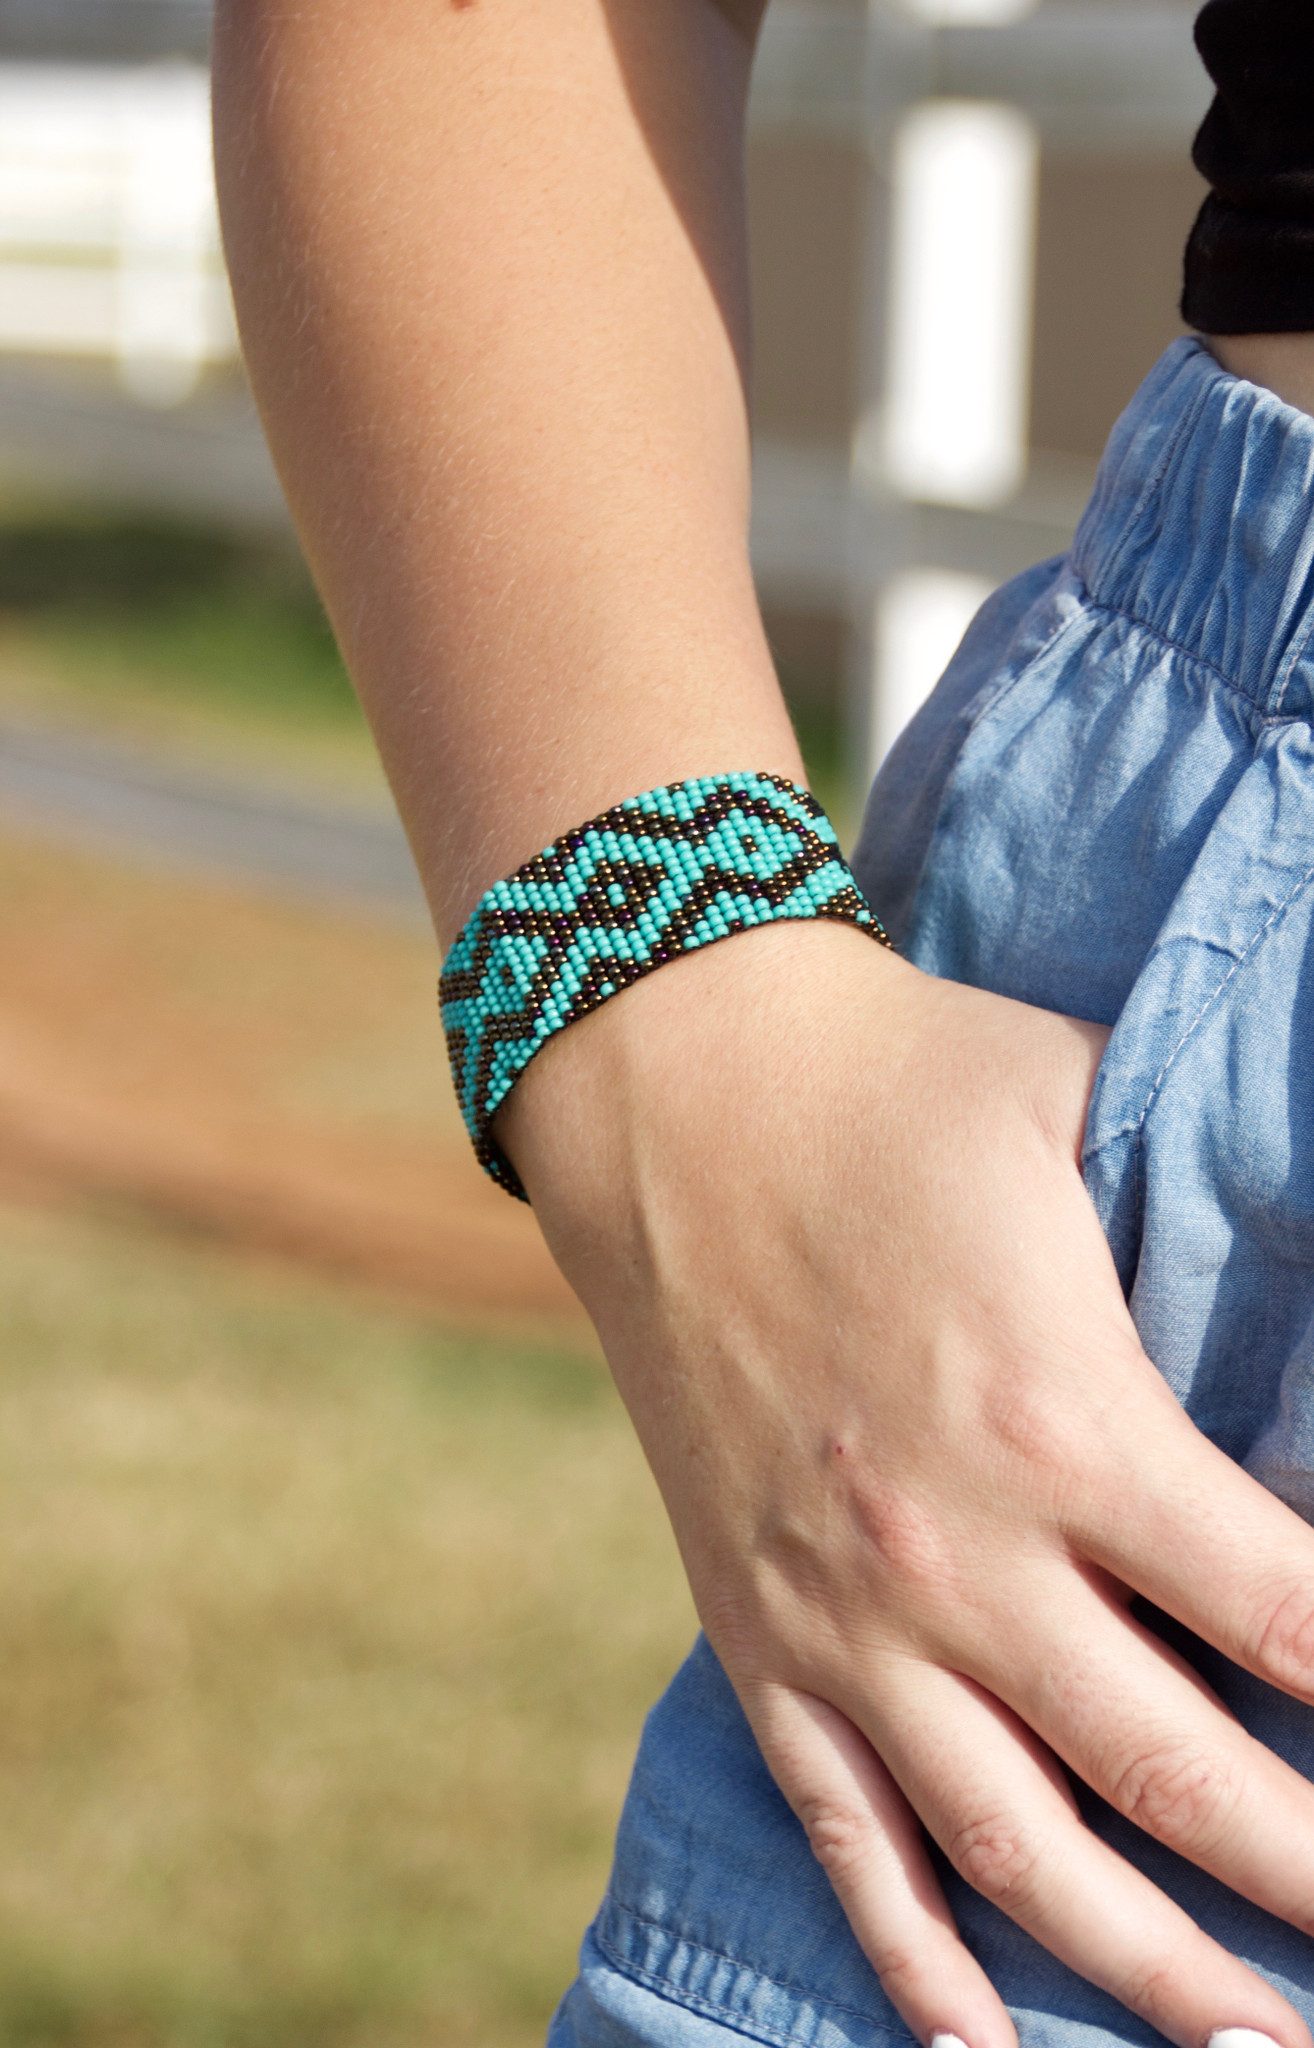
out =
<path fill-rule="evenodd" d="M 923 25 L 921 76 L 905 66 L 913 90 L 890 109 L 878 76 L 888 8 L 872 0 L 868 268 L 882 262 L 884 276 L 868 283 L 880 332 L 853 436 L 866 518 L 849 600 L 849 754 L 864 788 L 993 588 L 921 563 L 913 508 L 995 508 L 1025 477 L 1038 133 L 1015 106 L 937 92 L 933 31 L 1011 23 L 1032 4 L 909 0 L 899 12 Z M 876 559 L 860 557 L 864 541 Z"/>

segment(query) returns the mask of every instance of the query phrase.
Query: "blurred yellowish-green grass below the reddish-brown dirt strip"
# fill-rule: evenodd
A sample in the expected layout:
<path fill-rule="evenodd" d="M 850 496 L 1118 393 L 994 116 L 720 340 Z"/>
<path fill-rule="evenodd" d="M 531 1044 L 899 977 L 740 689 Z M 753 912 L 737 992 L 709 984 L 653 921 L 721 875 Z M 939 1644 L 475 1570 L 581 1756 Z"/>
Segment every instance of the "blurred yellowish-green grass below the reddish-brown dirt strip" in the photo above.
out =
<path fill-rule="evenodd" d="M 92 1217 L 0 1327 L 0 2042 L 540 2042 L 692 1632 L 596 1360 Z"/>

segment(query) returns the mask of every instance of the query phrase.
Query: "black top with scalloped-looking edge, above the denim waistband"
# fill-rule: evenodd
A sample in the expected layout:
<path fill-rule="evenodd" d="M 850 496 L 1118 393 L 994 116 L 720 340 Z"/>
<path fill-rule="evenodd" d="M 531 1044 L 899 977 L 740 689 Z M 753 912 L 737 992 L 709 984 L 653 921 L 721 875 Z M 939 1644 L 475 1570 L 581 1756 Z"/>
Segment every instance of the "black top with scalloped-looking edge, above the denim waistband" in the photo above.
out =
<path fill-rule="evenodd" d="M 1195 47 L 1218 96 L 1191 152 L 1212 193 L 1181 317 L 1201 334 L 1314 330 L 1314 0 L 1208 0 Z"/>

